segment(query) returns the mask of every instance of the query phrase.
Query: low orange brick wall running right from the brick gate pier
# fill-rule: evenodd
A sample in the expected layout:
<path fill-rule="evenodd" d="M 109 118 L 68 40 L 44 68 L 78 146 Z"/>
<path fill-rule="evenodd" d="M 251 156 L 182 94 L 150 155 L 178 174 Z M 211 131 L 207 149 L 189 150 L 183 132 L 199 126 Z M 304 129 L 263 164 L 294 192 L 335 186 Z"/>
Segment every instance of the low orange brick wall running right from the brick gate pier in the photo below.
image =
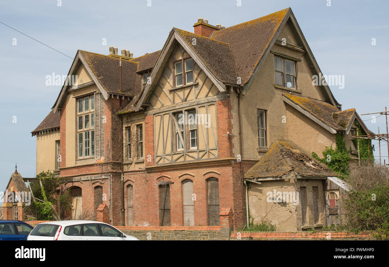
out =
<path fill-rule="evenodd" d="M 374 232 L 232 232 L 230 240 L 377 240 Z"/>

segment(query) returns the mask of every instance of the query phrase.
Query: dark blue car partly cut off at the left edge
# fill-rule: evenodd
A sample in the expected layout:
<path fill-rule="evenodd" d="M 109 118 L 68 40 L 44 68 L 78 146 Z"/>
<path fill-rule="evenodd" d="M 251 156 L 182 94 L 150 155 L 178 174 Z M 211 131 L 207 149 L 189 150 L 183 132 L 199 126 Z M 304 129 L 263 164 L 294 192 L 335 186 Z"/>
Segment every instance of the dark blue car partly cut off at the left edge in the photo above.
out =
<path fill-rule="evenodd" d="M 27 240 L 33 228 L 18 220 L 0 220 L 0 240 Z"/>

